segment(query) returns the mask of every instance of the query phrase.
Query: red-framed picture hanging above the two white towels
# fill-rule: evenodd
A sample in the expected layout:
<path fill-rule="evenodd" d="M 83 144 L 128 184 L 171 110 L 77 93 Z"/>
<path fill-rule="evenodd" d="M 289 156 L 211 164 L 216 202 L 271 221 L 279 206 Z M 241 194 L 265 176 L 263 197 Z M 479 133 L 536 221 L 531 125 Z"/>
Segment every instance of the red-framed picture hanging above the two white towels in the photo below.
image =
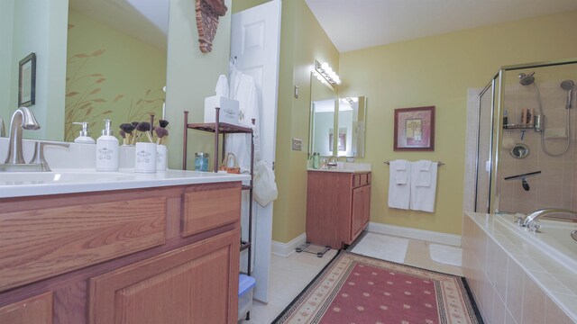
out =
<path fill-rule="evenodd" d="M 395 109 L 396 151 L 435 150 L 435 106 Z"/>

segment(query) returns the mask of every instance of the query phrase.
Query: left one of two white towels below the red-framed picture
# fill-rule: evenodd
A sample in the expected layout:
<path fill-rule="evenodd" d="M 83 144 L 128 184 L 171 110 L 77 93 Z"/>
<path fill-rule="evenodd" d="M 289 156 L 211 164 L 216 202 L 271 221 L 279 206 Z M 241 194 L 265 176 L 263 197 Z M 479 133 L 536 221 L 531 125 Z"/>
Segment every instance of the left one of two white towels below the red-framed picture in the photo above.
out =
<path fill-rule="evenodd" d="M 404 167 L 404 169 L 403 169 Z M 410 164 L 406 160 L 389 163 L 389 207 L 408 210 L 410 202 Z M 399 175 L 401 174 L 401 175 Z M 403 176 L 404 174 L 404 176 Z M 404 183 L 403 183 L 404 182 Z"/>

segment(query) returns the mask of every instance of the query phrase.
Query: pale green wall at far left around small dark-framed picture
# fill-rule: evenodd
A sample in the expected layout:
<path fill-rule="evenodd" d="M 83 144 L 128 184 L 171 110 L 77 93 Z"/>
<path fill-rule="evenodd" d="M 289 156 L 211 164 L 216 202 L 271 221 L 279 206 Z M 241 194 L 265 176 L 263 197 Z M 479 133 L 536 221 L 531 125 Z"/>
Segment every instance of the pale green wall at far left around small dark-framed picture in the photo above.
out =
<path fill-rule="evenodd" d="M 0 59 L 3 61 L 0 114 L 6 120 L 6 127 L 18 108 L 19 61 L 33 52 L 36 54 L 36 100 L 30 108 L 41 129 L 24 130 L 23 137 L 61 140 L 68 1 L 4 0 L 0 12 Z"/>

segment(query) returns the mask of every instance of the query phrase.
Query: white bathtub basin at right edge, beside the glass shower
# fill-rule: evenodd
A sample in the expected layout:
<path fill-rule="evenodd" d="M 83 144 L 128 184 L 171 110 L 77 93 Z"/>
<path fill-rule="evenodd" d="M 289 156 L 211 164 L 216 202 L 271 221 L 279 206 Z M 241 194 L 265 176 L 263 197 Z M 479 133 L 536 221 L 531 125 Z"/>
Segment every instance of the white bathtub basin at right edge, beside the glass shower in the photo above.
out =
<path fill-rule="evenodd" d="M 529 244 L 554 257 L 563 266 L 577 273 L 577 241 L 571 237 L 571 232 L 577 230 L 577 223 L 563 220 L 540 219 L 540 233 L 530 232 L 515 222 L 511 214 L 497 214 L 500 223 L 508 226 Z"/>

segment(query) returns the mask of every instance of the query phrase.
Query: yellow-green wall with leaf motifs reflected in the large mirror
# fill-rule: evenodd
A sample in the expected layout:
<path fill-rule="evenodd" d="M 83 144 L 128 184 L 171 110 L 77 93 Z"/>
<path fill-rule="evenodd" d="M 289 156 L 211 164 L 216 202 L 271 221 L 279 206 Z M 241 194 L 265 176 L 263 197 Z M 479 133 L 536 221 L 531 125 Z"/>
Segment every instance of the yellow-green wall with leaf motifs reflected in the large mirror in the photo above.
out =
<path fill-rule="evenodd" d="M 103 119 L 113 121 L 118 135 L 123 122 L 150 121 L 151 113 L 161 118 L 166 49 L 74 11 L 68 39 L 65 141 L 78 136 L 73 121 L 88 121 L 96 139 Z"/>

